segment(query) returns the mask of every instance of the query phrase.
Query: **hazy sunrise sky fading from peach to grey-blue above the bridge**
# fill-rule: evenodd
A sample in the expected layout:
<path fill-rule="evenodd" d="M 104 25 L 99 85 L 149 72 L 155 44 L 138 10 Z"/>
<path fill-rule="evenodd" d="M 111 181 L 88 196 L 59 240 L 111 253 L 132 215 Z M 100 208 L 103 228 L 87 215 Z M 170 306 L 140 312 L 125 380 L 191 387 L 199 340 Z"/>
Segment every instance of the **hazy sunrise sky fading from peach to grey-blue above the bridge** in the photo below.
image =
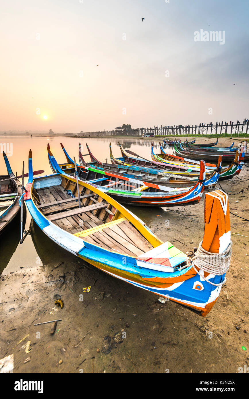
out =
<path fill-rule="evenodd" d="M 0 130 L 248 118 L 248 4 L 0 0 Z M 201 29 L 225 43 L 194 41 Z"/>

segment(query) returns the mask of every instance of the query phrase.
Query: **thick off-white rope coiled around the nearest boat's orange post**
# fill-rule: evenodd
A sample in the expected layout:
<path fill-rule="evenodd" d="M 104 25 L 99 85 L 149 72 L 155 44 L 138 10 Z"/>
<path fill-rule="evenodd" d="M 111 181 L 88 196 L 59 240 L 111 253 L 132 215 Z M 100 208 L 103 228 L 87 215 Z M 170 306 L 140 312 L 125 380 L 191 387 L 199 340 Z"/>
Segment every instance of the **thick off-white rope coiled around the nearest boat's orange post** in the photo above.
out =
<path fill-rule="evenodd" d="M 222 253 L 212 253 L 205 251 L 205 249 L 202 248 L 202 241 L 199 244 L 198 250 L 196 251 L 196 255 L 193 257 L 193 252 L 187 252 L 187 259 L 186 263 L 188 266 L 192 266 L 193 269 L 196 271 L 196 273 L 202 277 L 204 280 L 209 282 L 209 284 L 219 286 L 224 284 L 226 282 L 226 278 L 224 278 L 223 281 L 221 281 L 219 284 L 215 284 L 214 282 L 211 282 L 206 279 L 206 277 L 201 276 L 200 272 L 196 269 L 198 267 L 202 271 L 213 274 L 216 276 L 222 276 L 224 273 L 227 272 L 230 266 L 230 260 L 231 260 L 231 255 L 232 255 L 232 241 L 230 241 L 229 246 L 227 249 L 222 252 Z"/>

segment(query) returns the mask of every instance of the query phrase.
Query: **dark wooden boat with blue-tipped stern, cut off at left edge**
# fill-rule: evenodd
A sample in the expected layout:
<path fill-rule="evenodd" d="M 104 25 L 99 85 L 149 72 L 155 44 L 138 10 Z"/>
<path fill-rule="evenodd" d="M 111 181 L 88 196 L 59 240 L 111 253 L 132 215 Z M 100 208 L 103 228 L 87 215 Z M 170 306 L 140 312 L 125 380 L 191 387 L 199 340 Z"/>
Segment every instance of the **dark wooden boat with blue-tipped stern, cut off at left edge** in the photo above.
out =
<path fill-rule="evenodd" d="M 6 154 L 3 152 L 7 175 L 0 176 L 0 234 L 19 214 L 18 199 L 22 194 L 22 185 L 16 178 Z"/>

